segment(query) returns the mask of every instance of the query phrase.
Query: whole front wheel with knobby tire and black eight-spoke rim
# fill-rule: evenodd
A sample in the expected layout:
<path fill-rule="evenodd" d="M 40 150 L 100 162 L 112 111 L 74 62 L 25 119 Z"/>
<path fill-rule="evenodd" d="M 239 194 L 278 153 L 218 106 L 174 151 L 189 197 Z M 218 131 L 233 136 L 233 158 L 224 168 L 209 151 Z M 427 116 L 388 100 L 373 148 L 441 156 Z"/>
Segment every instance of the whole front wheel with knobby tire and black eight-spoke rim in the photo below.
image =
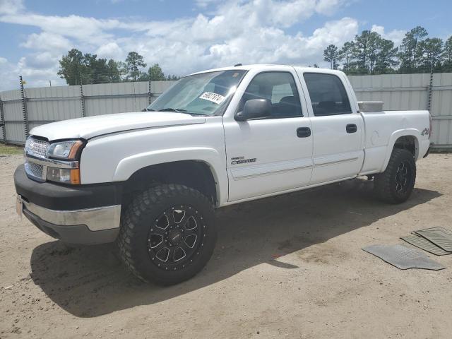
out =
<path fill-rule="evenodd" d="M 160 184 L 136 196 L 124 213 L 119 253 L 141 280 L 173 285 L 198 273 L 213 254 L 211 203 L 195 189 Z"/>

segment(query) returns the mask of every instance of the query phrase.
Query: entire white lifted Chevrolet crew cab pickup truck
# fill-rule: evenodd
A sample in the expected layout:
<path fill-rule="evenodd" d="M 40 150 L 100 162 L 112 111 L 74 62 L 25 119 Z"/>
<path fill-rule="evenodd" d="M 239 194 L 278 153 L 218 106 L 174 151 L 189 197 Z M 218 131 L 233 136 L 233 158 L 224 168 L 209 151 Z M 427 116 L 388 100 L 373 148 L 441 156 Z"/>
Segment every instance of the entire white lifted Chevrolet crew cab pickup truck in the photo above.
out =
<path fill-rule="evenodd" d="M 194 73 L 145 112 L 32 129 L 14 174 L 18 213 L 63 242 L 116 241 L 138 278 L 179 283 L 213 253 L 215 208 L 364 175 L 379 198 L 405 201 L 429 112 L 376 111 L 360 112 L 340 71 Z"/>

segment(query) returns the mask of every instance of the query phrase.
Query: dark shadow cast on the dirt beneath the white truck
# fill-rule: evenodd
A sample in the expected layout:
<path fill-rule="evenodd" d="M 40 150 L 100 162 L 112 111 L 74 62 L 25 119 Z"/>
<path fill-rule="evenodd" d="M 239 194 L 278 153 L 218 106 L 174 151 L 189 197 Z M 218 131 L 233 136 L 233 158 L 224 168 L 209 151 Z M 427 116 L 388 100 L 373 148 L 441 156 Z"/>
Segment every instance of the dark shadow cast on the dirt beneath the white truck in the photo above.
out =
<path fill-rule="evenodd" d="M 70 247 L 59 241 L 32 251 L 32 280 L 69 313 L 100 316 L 172 299 L 261 263 L 282 270 L 297 268 L 275 258 L 441 196 L 437 191 L 415 189 L 408 202 L 387 205 L 374 200 L 371 186 L 355 179 L 218 210 L 220 234 L 213 257 L 196 277 L 172 287 L 138 281 L 121 265 L 113 244 Z M 320 253 L 320 263 L 321 257 Z"/>

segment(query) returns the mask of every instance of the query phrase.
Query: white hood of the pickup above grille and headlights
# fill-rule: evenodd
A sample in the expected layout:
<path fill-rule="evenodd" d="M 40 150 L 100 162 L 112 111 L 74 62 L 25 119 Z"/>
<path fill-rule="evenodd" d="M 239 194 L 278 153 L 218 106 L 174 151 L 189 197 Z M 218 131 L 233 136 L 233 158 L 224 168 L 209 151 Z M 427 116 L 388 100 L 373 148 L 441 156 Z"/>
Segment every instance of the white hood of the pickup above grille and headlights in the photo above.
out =
<path fill-rule="evenodd" d="M 79 119 L 52 122 L 35 127 L 32 136 L 42 136 L 49 141 L 69 138 L 94 138 L 109 133 L 189 124 L 203 124 L 206 117 L 192 117 L 177 112 L 131 112 L 98 115 Z"/>

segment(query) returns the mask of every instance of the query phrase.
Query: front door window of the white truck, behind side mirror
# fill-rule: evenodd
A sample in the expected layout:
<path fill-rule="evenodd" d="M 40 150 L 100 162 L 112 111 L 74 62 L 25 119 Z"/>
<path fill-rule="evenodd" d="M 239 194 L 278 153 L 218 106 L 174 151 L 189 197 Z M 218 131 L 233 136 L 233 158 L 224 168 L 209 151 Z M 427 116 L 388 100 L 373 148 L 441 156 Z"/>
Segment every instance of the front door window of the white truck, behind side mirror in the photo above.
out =
<path fill-rule="evenodd" d="M 263 72 L 251 80 L 239 104 L 241 111 L 247 100 L 266 99 L 272 113 L 266 119 L 303 117 L 297 85 L 288 72 Z"/>

